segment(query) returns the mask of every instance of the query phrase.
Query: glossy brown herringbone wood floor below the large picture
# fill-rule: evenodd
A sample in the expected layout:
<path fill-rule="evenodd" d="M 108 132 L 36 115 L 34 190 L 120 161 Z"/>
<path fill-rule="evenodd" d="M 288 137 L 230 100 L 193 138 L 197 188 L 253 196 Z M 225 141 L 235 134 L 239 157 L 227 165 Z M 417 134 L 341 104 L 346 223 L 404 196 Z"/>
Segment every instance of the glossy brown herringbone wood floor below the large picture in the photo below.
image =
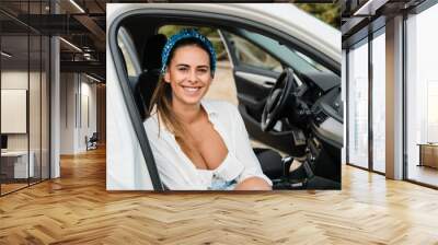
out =
<path fill-rule="evenodd" d="M 342 191 L 107 192 L 105 152 L 0 198 L 0 244 L 438 244 L 438 191 L 350 166 Z"/>

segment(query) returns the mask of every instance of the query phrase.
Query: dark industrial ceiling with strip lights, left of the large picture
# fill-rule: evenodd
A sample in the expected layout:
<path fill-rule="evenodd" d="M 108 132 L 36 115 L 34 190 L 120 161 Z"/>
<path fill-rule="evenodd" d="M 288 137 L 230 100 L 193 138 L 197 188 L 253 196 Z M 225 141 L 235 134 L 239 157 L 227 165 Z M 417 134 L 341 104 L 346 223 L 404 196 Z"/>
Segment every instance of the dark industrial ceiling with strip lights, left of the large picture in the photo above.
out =
<path fill-rule="evenodd" d="M 2 49 L 14 54 L 9 65 L 34 63 L 36 38 L 23 36 L 57 35 L 60 40 L 61 72 L 85 72 L 105 80 L 105 4 L 110 0 L 1 0 Z M 55 14 L 56 13 L 56 14 Z M 27 56 L 27 50 L 28 56 Z"/>

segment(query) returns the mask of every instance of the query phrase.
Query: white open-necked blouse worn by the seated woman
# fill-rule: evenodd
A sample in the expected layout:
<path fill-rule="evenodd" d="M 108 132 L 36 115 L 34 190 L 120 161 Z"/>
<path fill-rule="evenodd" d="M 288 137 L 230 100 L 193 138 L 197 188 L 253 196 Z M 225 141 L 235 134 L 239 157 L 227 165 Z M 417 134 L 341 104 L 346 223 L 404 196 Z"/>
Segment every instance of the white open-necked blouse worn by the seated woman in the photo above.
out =
<path fill-rule="evenodd" d="M 256 176 L 272 185 L 251 148 L 238 108 L 228 102 L 205 100 L 201 101 L 201 106 L 227 145 L 228 154 L 216 170 L 196 168 L 163 122 L 160 122 L 159 131 L 158 117 L 153 114 L 143 126 L 163 184 L 171 190 L 206 190 L 216 189 L 212 185 L 217 179 L 222 179 L 223 183 L 241 183 L 247 177 Z"/>

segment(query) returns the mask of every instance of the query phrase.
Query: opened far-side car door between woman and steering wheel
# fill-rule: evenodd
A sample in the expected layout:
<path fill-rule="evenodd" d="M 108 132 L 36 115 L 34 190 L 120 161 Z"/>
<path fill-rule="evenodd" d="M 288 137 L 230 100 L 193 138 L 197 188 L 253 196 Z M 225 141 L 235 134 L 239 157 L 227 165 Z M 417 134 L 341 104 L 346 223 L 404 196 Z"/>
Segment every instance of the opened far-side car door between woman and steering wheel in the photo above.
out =
<path fill-rule="evenodd" d="M 235 28 L 233 33 L 219 32 L 231 59 L 239 110 L 250 136 L 287 154 L 301 156 L 306 141 L 298 145 L 291 143 L 295 139 L 293 133 L 297 136 L 299 129 L 289 125 L 287 119 L 279 120 L 269 131 L 263 131 L 261 127 L 266 98 L 285 67 L 285 62 L 269 51 L 278 49 L 273 46 L 280 44 L 269 37 L 240 28 Z"/>

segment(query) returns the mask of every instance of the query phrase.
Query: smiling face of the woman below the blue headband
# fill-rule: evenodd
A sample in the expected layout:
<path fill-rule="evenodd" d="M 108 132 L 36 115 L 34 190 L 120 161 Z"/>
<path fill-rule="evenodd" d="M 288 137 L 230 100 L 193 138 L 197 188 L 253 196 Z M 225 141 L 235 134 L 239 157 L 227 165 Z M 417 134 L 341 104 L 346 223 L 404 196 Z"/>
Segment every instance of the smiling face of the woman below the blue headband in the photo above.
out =
<path fill-rule="evenodd" d="M 207 51 L 195 45 L 174 50 L 164 74 L 164 81 L 171 84 L 174 103 L 199 103 L 211 80 L 210 58 Z"/>

